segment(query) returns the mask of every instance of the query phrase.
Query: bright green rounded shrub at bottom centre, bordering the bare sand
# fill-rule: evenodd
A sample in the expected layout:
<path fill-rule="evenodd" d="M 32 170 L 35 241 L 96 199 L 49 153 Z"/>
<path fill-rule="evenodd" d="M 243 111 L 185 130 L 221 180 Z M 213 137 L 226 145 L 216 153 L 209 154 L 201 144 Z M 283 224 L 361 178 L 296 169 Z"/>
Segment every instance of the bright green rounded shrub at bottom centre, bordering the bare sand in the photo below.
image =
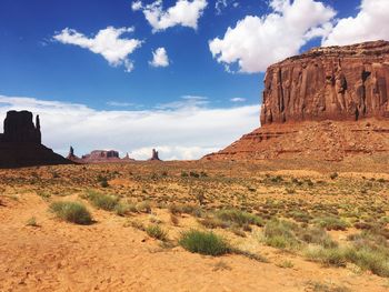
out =
<path fill-rule="evenodd" d="M 230 244 L 223 238 L 208 231 L 183 232 L 179 244 L 187 251 L 207 255 L 221 255 L 231 251 Z"/>

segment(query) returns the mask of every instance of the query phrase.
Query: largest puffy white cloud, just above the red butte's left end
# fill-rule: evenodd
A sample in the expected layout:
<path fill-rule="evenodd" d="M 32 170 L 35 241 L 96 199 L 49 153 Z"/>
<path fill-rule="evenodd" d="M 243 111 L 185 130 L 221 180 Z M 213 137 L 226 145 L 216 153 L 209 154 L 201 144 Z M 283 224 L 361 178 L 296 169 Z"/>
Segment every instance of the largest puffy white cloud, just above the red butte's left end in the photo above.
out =
<path fill-rule="evenodd" d="M 209 42 L 218 62 L 232 71 L 265 71 L 271 63 L 299 53 L 310 39 L 323 36 L 336 12 L 313 0 L 270 0 L 272 12 L 263 17 L 247 16 L 235 28 L 228 28 L 223 38 Z"/>

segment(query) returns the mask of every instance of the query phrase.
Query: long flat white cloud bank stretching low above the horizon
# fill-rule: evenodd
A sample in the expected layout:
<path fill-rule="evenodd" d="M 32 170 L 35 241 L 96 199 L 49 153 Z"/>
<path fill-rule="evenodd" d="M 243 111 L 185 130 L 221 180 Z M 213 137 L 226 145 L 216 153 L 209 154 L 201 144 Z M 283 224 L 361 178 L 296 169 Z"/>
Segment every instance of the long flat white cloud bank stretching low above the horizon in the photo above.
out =
<path fill-rule="evenodd" d="M 156 148 L 164 160 L 201 158 L 258 127 L 257 104 L 210 109 L 203 97 L 183 97 L 179 102 L 163 109 L 107 111 L 0 95 L 0 123 L 8 110 L 29 110 L 41 117 L 43 143 L 61 154 L 73 145 L 77 154 L 116 149 L 147 159 Z"/>

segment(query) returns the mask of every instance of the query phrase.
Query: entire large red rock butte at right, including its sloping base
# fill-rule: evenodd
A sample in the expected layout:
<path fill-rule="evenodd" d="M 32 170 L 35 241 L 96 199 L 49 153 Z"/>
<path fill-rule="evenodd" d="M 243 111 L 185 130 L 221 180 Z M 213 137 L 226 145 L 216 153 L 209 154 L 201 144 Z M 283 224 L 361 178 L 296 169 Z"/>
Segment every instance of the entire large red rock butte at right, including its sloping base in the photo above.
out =
<path fill-rule="evenodd" d="M 315 48 L 268 68 L 261 128 L 206 160 L 389 153 L 389 42 Z"/>

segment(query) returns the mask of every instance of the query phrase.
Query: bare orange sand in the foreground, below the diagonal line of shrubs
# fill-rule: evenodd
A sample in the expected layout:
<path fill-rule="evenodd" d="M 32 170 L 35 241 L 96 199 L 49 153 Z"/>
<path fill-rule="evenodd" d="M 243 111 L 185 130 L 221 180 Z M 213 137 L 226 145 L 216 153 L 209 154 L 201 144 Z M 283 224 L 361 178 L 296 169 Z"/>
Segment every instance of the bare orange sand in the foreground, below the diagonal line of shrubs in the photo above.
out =
<path fill-rule="evenodd" d="M 1 199 L 0 291 L 328 291 L 313 290 L 315 283 L 389 290 L 385 278 L 322 268 L 269 248 L 269 263 L 162 249 L 106 211 L 91 208 L 97 222 L 81 226 L 54 219 L 33 193 L 18 198 Z M 31 217 L 40 226 L 26 225 Z M 295 266 L 277 266 L 285 259 Z"/>

